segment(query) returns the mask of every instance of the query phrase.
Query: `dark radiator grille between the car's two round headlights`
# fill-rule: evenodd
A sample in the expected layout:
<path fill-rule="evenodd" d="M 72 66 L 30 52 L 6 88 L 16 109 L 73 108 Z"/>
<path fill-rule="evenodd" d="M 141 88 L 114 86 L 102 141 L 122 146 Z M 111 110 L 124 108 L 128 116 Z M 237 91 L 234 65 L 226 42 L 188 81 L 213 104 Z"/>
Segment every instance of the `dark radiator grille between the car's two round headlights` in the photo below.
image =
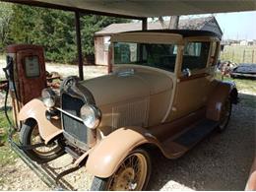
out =
<path fill-rule="evenodd" d="M 83 100 L 62 94 L 62 109 L 75 116 L 80 116 L 80 109 L 84 105 Z M 62 122 L 64 133 L 69 134 L 80 142 L 87 143 L 87 127 L 83 122 L 78 121 L 71 116 L 62 113 Z M 75 140 L 74 140 L 75 142 Z"/>

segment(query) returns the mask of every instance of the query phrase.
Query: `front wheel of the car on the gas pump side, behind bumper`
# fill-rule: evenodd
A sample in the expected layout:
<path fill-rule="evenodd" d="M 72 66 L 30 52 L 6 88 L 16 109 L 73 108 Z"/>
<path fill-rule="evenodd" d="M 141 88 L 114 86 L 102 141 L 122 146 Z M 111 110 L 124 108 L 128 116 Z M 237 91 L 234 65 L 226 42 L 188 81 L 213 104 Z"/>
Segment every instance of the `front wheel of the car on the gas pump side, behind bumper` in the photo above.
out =
<path fill-rule="evenodd" d="M 29 119 L 23 124 L 20 133 L 20 141 L 23 146 L 30 146 L 43 142 L 39 135 L 38 126 L 35 120 Z M 32 160 L 39 163 L 54 160 L 64 154 L 63 149 L 56 143 L 37 147 L 32 150 L 25 149 L 24 152 Z"/>

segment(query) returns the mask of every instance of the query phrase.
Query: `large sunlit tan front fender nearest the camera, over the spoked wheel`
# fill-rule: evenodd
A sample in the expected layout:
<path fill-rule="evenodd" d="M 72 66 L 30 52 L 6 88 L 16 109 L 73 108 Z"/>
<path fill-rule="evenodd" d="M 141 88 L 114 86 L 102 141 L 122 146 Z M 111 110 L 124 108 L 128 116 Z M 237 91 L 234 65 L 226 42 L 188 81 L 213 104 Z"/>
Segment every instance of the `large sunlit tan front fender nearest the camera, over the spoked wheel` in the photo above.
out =
<path fill-rule="evenodd" d="M 117 129 L 102 139 L 90 153 L 87 170 L 98 177 L 111 176 L 128 154 L 142 144 L 155 144 L 158 140 L 141 127 Z"/>

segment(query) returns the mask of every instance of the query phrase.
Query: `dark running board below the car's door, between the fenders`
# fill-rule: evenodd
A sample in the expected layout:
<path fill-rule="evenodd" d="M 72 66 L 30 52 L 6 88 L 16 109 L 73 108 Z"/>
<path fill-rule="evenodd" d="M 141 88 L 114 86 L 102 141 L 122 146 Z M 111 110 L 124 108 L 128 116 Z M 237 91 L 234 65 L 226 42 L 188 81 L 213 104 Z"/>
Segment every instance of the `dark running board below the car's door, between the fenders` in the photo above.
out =
<path fill-rule="evenodd" d="M 189 149 L 203 140 L 218 126 L 218 121 L 203 119 L 192 126 L 187 131 L 176 137 L 168 139 L 161 145 L 166 158 L 177 159 L 184 155 Z"/>

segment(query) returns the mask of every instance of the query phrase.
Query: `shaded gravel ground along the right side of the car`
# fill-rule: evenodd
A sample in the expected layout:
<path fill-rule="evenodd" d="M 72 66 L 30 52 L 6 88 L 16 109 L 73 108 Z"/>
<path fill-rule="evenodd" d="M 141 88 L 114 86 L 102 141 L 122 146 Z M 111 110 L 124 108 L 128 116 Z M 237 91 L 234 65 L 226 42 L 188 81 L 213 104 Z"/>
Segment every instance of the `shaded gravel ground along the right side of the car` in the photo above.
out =
<path fill-rule="evenodd" d="M 214 132 L 178 160 L 154 151 L 150 190 L 244 190 L 255 156 L 256 96 L 240 94 L 227 129 Z M 178 189 L 178 188 L 177 188 Z"/>

